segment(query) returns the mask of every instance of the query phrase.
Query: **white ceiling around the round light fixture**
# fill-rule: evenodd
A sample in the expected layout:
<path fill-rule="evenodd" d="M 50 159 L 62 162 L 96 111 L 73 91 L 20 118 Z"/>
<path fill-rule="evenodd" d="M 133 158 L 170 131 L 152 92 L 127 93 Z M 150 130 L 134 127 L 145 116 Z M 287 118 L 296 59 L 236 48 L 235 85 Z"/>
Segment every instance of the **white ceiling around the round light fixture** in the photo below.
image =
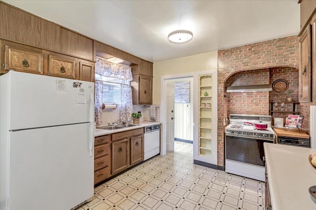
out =
<path fill-rule="evenodd" d="M 297 35 L 297 0 L 4 0 L 150 61 Z M 173 30 L 193 40 L 169 43 Z"/>

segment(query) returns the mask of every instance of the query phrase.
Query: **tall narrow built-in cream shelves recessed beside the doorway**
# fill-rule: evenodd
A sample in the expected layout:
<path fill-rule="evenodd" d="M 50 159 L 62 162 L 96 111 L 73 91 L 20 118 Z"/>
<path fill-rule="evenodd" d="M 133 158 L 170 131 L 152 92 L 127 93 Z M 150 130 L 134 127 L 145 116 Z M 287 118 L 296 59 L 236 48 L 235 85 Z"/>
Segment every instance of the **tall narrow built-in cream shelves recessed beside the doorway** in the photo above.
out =
<path fill-rule="evenodd" d="M 198 155 L 212 154 L 212 75 L 199 76 Z"/>

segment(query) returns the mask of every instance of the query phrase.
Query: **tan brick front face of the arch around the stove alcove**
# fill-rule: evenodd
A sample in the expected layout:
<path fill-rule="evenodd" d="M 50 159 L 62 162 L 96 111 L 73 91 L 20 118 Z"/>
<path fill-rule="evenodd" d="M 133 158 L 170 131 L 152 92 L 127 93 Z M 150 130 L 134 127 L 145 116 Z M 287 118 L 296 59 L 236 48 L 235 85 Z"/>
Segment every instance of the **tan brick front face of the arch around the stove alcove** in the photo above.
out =
<path fill-rule="evenodd" d="M 229 110 L 229 95 L 226 92 L 226 81 L 233 74 L 240 71 L 274 67 L 292 67 L 298 69 L 298 66 L 299 52 L 297 36 L 218 51 L 217 164 L 219 166 L 224 166 L 225 160 L 224 119 L 228 118 Z"/>

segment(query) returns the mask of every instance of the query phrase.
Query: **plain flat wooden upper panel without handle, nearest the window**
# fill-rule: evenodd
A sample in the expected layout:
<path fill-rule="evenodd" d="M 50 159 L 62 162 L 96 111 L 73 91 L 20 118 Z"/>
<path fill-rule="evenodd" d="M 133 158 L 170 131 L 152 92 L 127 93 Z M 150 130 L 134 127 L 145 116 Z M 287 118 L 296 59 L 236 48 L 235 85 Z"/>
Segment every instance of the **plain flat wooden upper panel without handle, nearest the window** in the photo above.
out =
<path fill-rule="evenodd" d="M 93 40 L 62 28 L 61 52 L 82 59 L 93 60 Z"/>

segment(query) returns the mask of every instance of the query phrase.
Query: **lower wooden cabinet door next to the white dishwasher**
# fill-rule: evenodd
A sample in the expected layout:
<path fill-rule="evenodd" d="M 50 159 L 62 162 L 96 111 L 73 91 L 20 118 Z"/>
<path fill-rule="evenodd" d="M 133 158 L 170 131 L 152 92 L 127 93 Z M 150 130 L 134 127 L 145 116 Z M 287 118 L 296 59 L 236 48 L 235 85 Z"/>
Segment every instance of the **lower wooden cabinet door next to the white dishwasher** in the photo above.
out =
<path fill-rule="evenodd" d="M 130 138 L 130 153 L 131 165 L 144 160 L 144 135 Z"/>

